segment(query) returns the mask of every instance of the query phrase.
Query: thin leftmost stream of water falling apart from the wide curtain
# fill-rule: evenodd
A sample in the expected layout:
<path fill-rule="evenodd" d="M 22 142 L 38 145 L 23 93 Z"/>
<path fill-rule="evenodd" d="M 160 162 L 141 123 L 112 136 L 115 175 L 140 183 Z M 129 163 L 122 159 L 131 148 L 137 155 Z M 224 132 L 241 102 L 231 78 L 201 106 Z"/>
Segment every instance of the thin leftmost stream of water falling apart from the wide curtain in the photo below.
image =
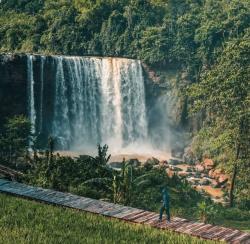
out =
<path fill-rule="evenodd" d="M 27 78 L 28 78 L 28 115 L 31 122 L 31 133 L 36 133 L 36 110 L 35 110 L 35 97 L 34 97 L 34 71 L 33 71 L 33 58 L 34 56 L 27 56 Z M 30 142 L 30 146 L 32 142 Z"/>

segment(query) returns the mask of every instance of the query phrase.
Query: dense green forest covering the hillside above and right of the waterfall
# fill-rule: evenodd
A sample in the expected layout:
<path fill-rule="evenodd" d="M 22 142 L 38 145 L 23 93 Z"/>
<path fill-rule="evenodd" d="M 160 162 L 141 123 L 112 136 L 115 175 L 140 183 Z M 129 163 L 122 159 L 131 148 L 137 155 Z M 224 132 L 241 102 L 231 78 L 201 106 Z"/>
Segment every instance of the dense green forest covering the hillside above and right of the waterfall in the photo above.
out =
<path fill-rule="evenodd" d="M 184 75 L 185 116 L 203 114 L 194 153 L 231 174 L 230 205 L 249 209 L 249 23 L 249 0 L 2 0 L 0 52 L 130 57 Z"/>

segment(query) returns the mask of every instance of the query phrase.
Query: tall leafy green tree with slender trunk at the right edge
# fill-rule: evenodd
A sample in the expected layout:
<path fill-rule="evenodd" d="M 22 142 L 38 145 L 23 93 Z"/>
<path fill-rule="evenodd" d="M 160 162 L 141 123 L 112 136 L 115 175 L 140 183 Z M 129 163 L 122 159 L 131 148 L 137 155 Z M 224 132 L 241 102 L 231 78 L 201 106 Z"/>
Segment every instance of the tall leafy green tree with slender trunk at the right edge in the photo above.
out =
<path fill-rule="evenodd" d="M 232 174 L 230 206 L 240 169 L 249 160 L 250 43 L 249 36 L 232 40 L 218 62 L 191 87 L 195 111 L 206 110 L 205 126 L 217 140 L 217 154 L 226 156 Z"/>

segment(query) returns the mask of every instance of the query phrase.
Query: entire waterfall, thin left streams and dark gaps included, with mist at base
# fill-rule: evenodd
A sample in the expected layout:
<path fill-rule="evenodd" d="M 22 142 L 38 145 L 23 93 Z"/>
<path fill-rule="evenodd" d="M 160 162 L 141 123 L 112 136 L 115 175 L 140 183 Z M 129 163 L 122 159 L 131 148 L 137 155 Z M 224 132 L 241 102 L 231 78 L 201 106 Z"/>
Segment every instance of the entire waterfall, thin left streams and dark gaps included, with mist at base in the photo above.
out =
<path fill-rule="evenodd" d="M 58 150 L 86 154 L 97 144 L 112 155 L 169 151 L 165 109 L 151 107 L 163 122 L 148 132 L 139 60 L 29 55 L 27 67 L 28 115 L 42 145 L 52 135 Z"/>

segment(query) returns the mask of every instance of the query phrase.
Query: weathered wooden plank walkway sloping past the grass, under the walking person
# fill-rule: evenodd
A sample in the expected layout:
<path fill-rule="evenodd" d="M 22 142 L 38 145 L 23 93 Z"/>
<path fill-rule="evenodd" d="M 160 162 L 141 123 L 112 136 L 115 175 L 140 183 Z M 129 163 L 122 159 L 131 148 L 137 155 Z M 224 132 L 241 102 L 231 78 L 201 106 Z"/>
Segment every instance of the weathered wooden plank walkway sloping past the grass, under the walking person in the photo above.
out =
<path fill-rule="evenodd" d="M 159 223 L 158 213 L 80 197 L 70 193 L 32 187 L 3 179 L 0 179 L 0 192 L 56 204 L 63 207 L 79 209 L 128 222 L 146 224 L 158 229 L 169 229 L 203 239 L 226 241 L 228 243 L 250 244 L 250 233 L 244 233 L 239 230 L 189 221 L 177 217 L 172 218 L 170 223 L 166 223 L 166 221 Z"/>

